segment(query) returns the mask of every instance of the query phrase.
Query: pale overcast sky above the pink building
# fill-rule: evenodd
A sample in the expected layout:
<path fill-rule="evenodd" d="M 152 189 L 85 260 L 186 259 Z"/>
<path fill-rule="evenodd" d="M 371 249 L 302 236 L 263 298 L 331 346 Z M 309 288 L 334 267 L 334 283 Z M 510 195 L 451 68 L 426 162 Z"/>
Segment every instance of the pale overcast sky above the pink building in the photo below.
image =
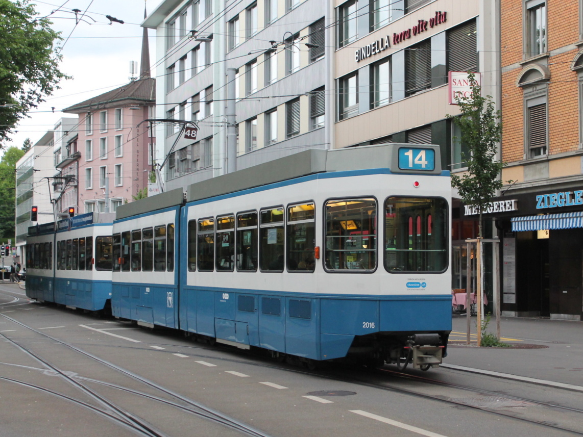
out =
<path fill-rule="evenodd" d="M 147 11 L 154 10 L 161 1 L 147 0 Z M 144 0 L 31 0 L 31 3 L 40 16 L 57 10 L 50 19 L 52 28 L 61 31 L 65 40 L 61 42 L 64 44 L 61 71 L 73 77 L 63 80 L 60 90 L 29 112 L 31 118 L 20 122 L 6 147 L 20 148 L 26 138 L 36 143 L 61 117 L 77 117 L 60 110 L 128 83 L 129 61 L 138 62 L 138 72 L 140 68 L 143 29 L 139 24 L 143 21 Z M 72 9 L 86 12 L 83 21 L 75 24 Z M 123 20 L 124 24 L 109 24 L 106 15 Z M 150 64 L 154 65 L 157 61 L 154 30 L 149 29 L 148 34 Z"/>

